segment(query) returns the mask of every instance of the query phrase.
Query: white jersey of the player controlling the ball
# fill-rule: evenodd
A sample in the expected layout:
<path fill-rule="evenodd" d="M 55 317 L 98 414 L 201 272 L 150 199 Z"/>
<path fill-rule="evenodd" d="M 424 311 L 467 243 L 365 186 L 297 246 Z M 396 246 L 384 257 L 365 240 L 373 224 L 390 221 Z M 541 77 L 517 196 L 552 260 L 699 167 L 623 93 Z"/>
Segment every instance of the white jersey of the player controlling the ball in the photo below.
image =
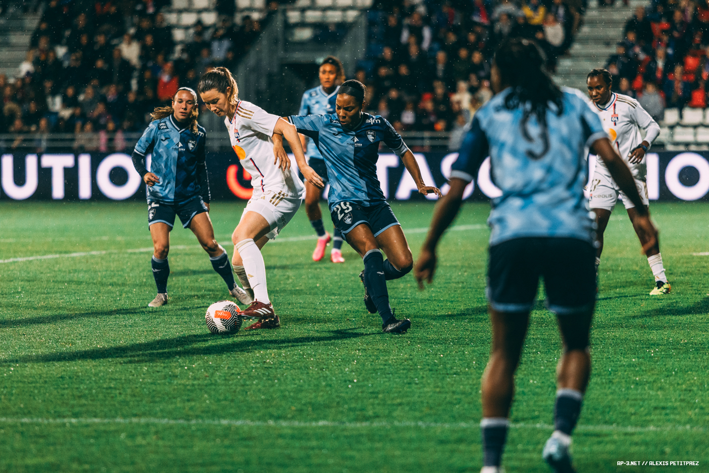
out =
<path fill-rule="evenodd" d="M 267 113 L 263 108 L 240 100 L 233 118 L 224 118 L 229 130 L 231 147 L 241 165 L 251 174 L 254 197 L 267 192 L 283 192 L 286 196 L 303 198 L 303 182 L 294 167 L 281 170 L 274 165 L 273 130 L 281 117 Z"/>

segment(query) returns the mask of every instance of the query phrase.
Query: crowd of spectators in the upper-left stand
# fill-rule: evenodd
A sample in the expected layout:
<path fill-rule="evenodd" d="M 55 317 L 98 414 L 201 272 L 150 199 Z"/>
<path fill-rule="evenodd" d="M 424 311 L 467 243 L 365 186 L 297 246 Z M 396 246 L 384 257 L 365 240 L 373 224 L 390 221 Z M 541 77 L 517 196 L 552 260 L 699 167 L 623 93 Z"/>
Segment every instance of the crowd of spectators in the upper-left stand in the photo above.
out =
<path fill-rule="evenodd" d="M 122 150 L 124 132 L 142 132 L 155 106 L 208 68 L 233 69 L 261 30 L 249 17 L 236 25 L 233 0 L 218 1 L 218 23 L 196 23 L 175 48 L 167 4 L 50 0 L 17 77 L 0 75 L 0 133 L 74 133 L 78 150 Z"/>

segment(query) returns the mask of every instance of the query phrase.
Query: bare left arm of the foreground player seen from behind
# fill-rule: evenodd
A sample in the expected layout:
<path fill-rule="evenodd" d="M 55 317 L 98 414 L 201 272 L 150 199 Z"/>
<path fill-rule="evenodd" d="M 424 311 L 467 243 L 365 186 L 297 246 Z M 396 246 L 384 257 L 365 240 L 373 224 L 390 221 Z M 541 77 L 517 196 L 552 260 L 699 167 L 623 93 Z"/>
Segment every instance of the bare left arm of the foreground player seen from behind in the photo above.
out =
<path fill-rule="evenodd" d="M 436 270 L 436 246 L 438 245 L 438 240 L 440 240 L 445 229 L 450 226 L 457 215 L 460 204 L 463 201 L 463 192 L 468 184 L 468 182 L 457 177 L 450 179 L 450 191 L 436 206 L 428 236 L 425 243 L 423 243 L 423 247 L 421 247 L 421 252 L 413 269 L 413 277 L 416 278 L 419 289 L 423 289 L 424 280 L 428 284 L 433 282 L 433 274 Z"/>

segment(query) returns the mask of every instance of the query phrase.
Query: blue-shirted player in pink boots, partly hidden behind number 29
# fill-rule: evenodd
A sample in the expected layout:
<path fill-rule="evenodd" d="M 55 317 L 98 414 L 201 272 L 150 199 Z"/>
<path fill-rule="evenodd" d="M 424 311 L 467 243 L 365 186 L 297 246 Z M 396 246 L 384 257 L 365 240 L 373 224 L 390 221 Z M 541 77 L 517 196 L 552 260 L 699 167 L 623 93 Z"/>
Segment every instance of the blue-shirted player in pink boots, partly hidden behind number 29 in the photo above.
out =
<path fill-rule="evenodd" d="M 337 91 L 340 89 L 338 84 L 345 82 L 345 69 L 342 68 L 342 62 L 337 57 L 325 57 L 320 63 L 318 69 L 318 79 L 320 85 L 313 89 L 306 90 L 301 99 L 301 108 L 298 115 L 322 115 L 326 113 L 335 113 L 335 99 L 337 99 Z M 312 167 L 323 179 L 325 184 L 328 184 L 328 169 L 325 167 L 323 155 L 320 154 L 315 141 L 308 138 L 306 135 L 301 135 L 301 143 L 303 149 L 306 150 L 308 165 Z M 313 251 L 313 261 L 320 261 L 325 256 L 325 247 L 330 243 L 330 233 L 325 231 L 323 226 L 323 213 L 320 211 L 320 197 L 323 195 L 323 189 L 314 186 L 306 181 L 306 213 L 311 225 L 318 233 L 318 244 Z M 342 257 L 342 233 L 340 230 L 333 231 L 333 250 L 330 251 L 330 261 L 333 263 L 343 263 L 345 259 Z"/>

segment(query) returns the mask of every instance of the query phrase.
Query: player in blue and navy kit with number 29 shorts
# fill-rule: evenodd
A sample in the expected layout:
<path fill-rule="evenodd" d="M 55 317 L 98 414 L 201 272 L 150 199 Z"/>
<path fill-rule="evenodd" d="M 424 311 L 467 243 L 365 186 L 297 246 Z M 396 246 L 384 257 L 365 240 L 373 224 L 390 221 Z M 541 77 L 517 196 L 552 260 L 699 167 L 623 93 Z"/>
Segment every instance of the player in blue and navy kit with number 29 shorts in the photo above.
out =
<path fill-rule="evenodd" d="M 411 327 L 411 321 L 399 321 L 393 316 L 386 280 L 408 274 L 413 258 L 376 178 L 380 143 L 401 157 L 420 194 L 440 196 L 440 190 L 423 182 L 413 153 L 391 124 L 381 116 L 362 111 L 366 89 L 362 82 L 348 80 L 337 92 L 335 114 L 288 119 L 298 133 L 313 139 L 323 155 L 330 177 L 330 216 L 364 261 L 359 277 L 364 283 L 367 311 L 379 312 L 385 332 L 403 333 Z"/>

